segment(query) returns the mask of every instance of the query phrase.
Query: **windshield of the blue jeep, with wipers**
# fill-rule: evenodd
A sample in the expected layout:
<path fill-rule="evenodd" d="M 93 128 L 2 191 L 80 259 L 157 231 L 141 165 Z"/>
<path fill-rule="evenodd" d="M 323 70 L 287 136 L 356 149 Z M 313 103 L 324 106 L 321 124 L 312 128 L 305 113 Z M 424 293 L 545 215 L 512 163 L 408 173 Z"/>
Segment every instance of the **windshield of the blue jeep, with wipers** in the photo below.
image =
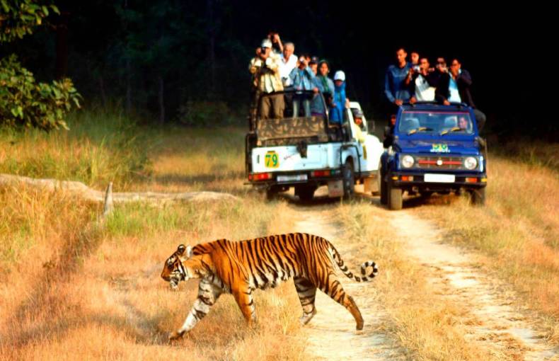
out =
<path fill-rule="evenodd" d="M 405 134 L 437 133 L 472 134 L 473 124 L 468 112 L 404 111 L 400 115 L 398 132 Z"/>

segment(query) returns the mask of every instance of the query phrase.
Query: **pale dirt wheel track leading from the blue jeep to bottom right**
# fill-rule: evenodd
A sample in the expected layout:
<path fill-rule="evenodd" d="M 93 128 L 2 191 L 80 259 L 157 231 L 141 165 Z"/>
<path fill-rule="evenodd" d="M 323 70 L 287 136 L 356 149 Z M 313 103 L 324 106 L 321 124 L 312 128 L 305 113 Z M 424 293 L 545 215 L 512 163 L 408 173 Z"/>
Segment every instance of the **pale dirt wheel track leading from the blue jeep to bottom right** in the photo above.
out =
<path fill-rule="evenodd" d="M 516 309 L 514 292 L 480 273 L 473 259 L 459 248 L 442 243 L 442 232 L 405 211 L 394 212 L 391 226 L 405 242 L 409 256 L 427 268 L 428 279 L 442 297 L 460 304 L 471 315 L 465 321 L 467 339 L 512 360 L 559 360 L 527 310 Z"/>

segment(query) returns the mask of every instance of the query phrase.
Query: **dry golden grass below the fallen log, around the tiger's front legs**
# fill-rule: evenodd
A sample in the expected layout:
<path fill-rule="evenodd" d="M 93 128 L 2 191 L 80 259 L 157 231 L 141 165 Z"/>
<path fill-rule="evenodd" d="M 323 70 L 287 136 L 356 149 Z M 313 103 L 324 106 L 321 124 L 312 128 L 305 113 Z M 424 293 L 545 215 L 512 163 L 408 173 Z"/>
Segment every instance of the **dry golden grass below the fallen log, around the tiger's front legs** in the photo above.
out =
<path fill-rule="evenodd" d="M 12 202 L 8 196 L 21 195 L 15 192 L 4 190 L 4 200 Z M 42 202 L 44 197 L 23 193 L 29 200 L 26 207 L 40 202 L 44 217 L 52 217 L 64 196 L 50 195 Z M 29 212 L 26 207 L 18 211 Z M 89 212 L 84 211 L 81 223 L 69 210 L 60 224 L 50 222 L 52 231 L 40 224 L 31 229 L 34 246 L 21 251 L 12 260 L 13 271 L 3 275 L 0 358 L 161 360 L 184 357 L 185 352 L 196 360 L 304 358 L 304 340 L 298 337 L 299 299 L 290 283 L 256 294 L 260 323 L 255 328 L 245 325 L 234 299 L 224 295 L 185 340 L 167 342 L 168 332 L 178 328 L 190 311 L 197 282 L 186 282 L 180 292 L 171 292 L 159 277 L 163 260 L 179 243 L 284 231 L 284 204 L 267 205 L 248 197 L 242 202 L 163 209 L 128 205 L 107 219 L 105 229 L 86 226 L 91 208 L 82 207 Z M 159 220 L 137 222 L 142 217 Z M 73 234 L 57 233 L 57 227 L 70 224 L 75 227 Z M 52 251 L 42 255 L 40 250 L 49 247 Z M 68 251 L 65 257 L 63 250 Z"/>

